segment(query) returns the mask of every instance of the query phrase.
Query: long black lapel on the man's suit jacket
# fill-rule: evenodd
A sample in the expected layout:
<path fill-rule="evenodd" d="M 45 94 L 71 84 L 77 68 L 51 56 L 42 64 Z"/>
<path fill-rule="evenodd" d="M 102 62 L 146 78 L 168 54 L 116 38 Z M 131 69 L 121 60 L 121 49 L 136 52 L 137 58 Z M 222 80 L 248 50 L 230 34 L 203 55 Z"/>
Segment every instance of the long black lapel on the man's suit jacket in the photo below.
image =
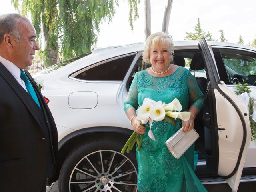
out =
<path fill-rule="evenodd" d="M 36 119 L 38 124 L 40 124 L 38 117 L 35 115 L 34 104 L 31 100 L 31 96 L 20 86 L 20 84 L 16 81 L 16 79 L 12 76 L 12 74 L 5 68 L 5 66 L 0 62 L 0 75 L 6 80 L 6 82 L 12 87 L 14 92 L 18 95 L 20 100 L 25 104 L 25 106 L 30 111 L 31 115 Z"/>

